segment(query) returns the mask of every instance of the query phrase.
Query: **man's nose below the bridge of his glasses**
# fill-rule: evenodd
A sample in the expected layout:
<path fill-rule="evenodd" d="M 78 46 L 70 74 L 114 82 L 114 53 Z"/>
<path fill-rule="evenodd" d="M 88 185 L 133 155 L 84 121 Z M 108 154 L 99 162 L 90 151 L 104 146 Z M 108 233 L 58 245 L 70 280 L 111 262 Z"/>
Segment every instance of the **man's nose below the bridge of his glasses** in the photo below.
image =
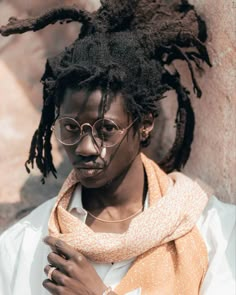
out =
<path fill-rule="evenodd" d="M 100 154 L 99 148 L 94 141 L 92 134 L 85 134 L 77 144 L 76 155 L 83 157 L 98 156 Z"/>

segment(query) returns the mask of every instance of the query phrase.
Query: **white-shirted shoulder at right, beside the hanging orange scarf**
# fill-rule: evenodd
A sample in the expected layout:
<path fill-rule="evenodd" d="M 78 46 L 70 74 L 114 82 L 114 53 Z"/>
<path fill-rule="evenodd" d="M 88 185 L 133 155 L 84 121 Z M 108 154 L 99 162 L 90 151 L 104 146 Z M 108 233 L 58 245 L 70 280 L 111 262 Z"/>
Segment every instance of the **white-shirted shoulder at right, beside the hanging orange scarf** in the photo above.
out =
<path fill-rule="evenodd" d="M 200 294 L 235 294 L 236 206 L 211 197 L 197 227 L 209 261 Z"/>

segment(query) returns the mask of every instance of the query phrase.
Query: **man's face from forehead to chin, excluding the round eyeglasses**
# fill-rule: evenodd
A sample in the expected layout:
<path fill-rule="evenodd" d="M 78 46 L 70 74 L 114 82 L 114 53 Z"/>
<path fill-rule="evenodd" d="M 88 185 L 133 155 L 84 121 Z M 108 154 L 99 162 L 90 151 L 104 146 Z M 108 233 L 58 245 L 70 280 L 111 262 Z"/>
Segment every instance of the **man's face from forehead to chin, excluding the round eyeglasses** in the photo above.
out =
<path fill-rule="evenodd" d="M 65 91 L 60 107 L 60 117 L 75 119 L 80 126 L 84 124 L 83 135 L 79 142 L 64 148 L 76 169 L 80 182 L 87 188 L 99 188 L 111 184 L 121 177 L 135 160 L 140 150 L 139 132 L 135 132 L 132 119 L 125 111 L 121 94 L 112 97 L 104 114 L 121 129 L 128 128 L 120 136 L 117 144 L 102 147 L 96 144 L 91 128 L 102 117 L 102 93 L 100 90 L 77 90 L 68 88 Z"/>

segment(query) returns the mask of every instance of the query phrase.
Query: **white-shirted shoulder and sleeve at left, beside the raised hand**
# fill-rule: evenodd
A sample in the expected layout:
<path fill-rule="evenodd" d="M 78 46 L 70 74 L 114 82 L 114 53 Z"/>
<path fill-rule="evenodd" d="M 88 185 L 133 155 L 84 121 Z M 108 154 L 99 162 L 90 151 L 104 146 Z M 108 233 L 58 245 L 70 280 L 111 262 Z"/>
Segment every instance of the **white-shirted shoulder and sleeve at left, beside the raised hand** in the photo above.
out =
<path fill-rule="evenodd" d="M 48 253 L 42 239 L 48 232 L 48 219 L 55 198 L 43 203 L 0 236 L 0 294 L 32 294 L 41 281 Z M 35 293 L 35 294 L 36 294 Z"/>

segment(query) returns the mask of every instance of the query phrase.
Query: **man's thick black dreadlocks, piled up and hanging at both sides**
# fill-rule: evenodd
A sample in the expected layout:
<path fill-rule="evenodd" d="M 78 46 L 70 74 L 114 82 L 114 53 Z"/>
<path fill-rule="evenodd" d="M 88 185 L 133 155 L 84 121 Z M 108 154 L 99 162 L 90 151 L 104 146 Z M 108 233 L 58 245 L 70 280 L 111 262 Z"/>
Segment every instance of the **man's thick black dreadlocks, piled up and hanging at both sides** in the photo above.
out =
<path fill-rule="evenodd" d="M 211 66 L 205 22 L 187 0 L 102 0 L 94 13 L 74 7 L 61 7 L 26 20 L 10 18 L 0 28 L 3 36 L 37 31 L 57 21 L 82 23 L 78 38 L 61 54 L 49 58 L 41 79 L 43 109 L 40 124 L 31 142 L 28 165 L 37 167 L 44 178 L 56 176 L 51 155 L 51 127 L 56 119 L 66 87 L 100 87 L 104 111 L 110 92 L 120 91 L 128 112 L 141 121 L 145 114 L 158 114 L 158 100 L 167 90 L 175 90 L 178 110 L 176 137 L 172 148 L 159 163 L 170 172 L 187 161 L 194 131 L 194 112 L 189 92 L 177 69 L 168 70 L 175 60 L 186 62 L 193 90 L 201 97 L 195 69 L 201 62 Z M 147 146 L 150 138 L 143 143 Z"/>

